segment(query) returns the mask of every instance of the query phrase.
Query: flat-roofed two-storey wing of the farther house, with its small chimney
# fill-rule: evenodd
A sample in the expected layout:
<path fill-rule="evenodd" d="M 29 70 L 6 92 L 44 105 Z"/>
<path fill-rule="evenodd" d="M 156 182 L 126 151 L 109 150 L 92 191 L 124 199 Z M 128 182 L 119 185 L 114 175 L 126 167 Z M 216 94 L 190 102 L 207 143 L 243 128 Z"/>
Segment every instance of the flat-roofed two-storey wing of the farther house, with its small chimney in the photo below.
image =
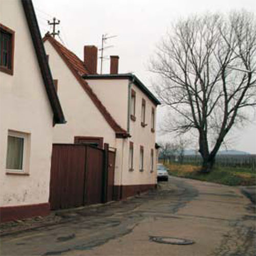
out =
<path fill-rule="evenodd" d="M 117 198 L 126 198 L 156 185 L 156 109 L 160 102 L 133 74 L 118 74 L 118 57 L 111 56 L 111 74 L 83 78 L 129 136 L 116 143 Z"/>

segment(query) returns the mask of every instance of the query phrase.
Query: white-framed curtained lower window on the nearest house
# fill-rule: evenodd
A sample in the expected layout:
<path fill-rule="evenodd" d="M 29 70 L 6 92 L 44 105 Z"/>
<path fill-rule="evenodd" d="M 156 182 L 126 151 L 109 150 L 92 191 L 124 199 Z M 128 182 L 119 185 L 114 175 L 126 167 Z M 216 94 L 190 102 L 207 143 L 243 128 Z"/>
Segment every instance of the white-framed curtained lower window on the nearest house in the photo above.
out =
<path fill-rule="evenodd" d="M 7 172 L 28 172 L 26 169 L 29 156 L 28 134 L 8 132 L 7 138 Z"/>

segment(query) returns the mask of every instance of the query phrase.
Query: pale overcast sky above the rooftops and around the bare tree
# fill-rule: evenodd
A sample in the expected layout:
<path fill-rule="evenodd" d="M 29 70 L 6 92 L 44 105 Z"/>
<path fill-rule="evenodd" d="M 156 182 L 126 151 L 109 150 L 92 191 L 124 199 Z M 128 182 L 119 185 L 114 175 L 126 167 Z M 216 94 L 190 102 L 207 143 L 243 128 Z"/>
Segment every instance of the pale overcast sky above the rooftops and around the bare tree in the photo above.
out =
<path fill-rule="evenodd" d="M 105 46 L 113 47 L 106 49 L 104 55 L 119 55 L 119 73 L 134 72 L 149 89 L 154 75 L 148 72 L 148 60 L 177 18 L 207 11 L 246 9 L 256 13 L 255 0 L 33 0 L 33 3 L 42 36 L 50 30 L 47 20 L 55 16 L 60 20 L 57 30 L 62 42 L 81 59 L 84 45 L 100 48 L 102 34 L 117 35 L 106 42 Z M 103 73 L 109 73 L 109 60 L 103 63 Z M 164 116 L 161 108 L 158 108 L 158 124 Z M 233 132 L 230 149 L 256 154 L 254 119 L 253 124 Z M 158 135 L 158 141 L 162 139 Z"/>

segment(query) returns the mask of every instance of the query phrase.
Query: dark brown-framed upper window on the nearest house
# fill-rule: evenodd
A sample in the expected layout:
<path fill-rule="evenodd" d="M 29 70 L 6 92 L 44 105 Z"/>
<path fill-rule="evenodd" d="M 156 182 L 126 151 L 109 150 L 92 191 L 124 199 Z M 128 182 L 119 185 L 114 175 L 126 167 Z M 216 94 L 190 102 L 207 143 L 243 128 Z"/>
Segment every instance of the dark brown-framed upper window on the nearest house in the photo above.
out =
<path fill-rule="evenodd" d="M 14 31 L 0 24 L 0 71 L 13 75 Z"/>

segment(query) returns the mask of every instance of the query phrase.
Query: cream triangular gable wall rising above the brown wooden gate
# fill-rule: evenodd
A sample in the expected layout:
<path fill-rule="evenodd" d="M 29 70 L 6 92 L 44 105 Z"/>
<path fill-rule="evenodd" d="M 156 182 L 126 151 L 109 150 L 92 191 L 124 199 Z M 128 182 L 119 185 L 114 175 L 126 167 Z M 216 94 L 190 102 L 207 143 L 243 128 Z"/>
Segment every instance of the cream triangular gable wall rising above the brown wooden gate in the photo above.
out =
<path fill-rule="evenodd" d="M 67 123 L 55 125 L 54 143 L 74 143 L 75 136 L 103 137 L 104 143 L 115 147 L 115 132 L 106 122 L 86 91 L 69 70 L 49 41 L 44 43 L 54 79 L 58 79 L 57 94 Z"/>

